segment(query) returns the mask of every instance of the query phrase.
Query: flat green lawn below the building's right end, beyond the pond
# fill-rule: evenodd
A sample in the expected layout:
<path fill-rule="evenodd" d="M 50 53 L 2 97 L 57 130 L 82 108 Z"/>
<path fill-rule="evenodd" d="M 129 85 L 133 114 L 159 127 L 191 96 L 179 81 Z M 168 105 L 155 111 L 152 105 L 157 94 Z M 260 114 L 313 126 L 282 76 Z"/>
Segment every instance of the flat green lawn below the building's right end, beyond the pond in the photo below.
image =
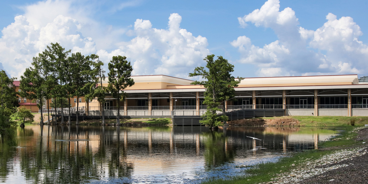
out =
<path fill-rule="evenodd" d="M 355 120 L 355 126 L 368 124 L 367 116 L 285 116 L 285 117 L 266 117 L 273 118 L 295 118 L 300 121 L 301 126 L 307 127 L 351 127 L 350 120 Z"/>

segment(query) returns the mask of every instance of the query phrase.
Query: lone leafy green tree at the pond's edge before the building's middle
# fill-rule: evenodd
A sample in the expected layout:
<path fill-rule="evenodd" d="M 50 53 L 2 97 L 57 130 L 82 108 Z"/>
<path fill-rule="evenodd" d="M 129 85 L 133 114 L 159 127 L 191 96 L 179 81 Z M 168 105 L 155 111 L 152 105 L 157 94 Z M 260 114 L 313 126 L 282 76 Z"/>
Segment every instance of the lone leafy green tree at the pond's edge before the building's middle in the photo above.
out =
<path fill-rule="evenodd" d="M 208 55 L 204 60 L 207 62 L 205 70 L 204 67 L 197 67 L 189 77 L 200 76 L 203 81 L 195 81 L 191 84 L 203 85 L 206 88 L 204 93 L 204 104 L 207 105 L 207 112 L 202 115 L 202 124 L 210 126 L 210 128 L 221 125 L 221 121 L 227 121 L 226 115 L 218 115 L 216 111 L 223 111 L 218 107 L 227 100 L 234 98 L 235 89 L 241 79 L 235 80 L 231 76 L 234 71 L 234 66 L 230 64 L 222 56 L 218 56 L 217 60 L 213 60 L 215 55 Z"/>

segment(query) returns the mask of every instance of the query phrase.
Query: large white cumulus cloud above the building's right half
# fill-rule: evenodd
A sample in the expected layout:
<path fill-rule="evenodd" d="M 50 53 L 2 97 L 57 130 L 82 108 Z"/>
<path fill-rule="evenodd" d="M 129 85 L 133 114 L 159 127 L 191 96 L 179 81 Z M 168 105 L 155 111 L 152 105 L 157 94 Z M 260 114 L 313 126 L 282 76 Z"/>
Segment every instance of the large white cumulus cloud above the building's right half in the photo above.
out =
<path fill-rule="evenodd" d="M 359 41 L 360 27 L 351 17 L 337 19 L 329 13 L 326 19 L 315 31 L 307 30 L 291 8 L 280 11 L 279 0 L 268 0 L 238 21 L 244 28 L 248 22 L 271 28 L 278 40 L 260 48 L 239 36 L 230 44 L 241 53 L 239 62 L 259 67 L 260 76 L 363 73 L 368 69 L 368 47 Z"/>

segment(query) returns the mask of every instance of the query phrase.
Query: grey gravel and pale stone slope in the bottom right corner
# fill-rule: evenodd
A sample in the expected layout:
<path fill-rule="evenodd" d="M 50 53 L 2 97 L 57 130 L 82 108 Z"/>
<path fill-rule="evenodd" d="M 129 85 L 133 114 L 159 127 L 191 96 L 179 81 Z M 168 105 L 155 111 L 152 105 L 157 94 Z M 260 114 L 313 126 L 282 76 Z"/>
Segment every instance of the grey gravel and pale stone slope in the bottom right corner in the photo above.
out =
<path fill-rule="evenodd" d="M 358 127 L 352 132 L 358 132 L 356 140 L 368 142 L 368 128 Z M 317 160 L 300 158 L 300 162 L 291 165 L 295 169 L 280 170 L 272 181 L 262 184 L 365 184 L 368 183 L 367 149 L 363 143 L 333 151 Z"/>

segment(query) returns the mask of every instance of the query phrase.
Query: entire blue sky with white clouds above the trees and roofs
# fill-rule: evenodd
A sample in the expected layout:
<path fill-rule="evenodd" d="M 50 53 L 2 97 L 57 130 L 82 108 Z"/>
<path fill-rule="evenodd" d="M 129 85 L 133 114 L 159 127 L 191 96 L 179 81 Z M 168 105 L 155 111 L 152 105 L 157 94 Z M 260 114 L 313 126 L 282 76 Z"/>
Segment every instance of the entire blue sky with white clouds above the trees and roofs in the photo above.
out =
<path fill-rule="evenodd" d="M 239 77 L 368 75 L 368 1 L 0 2 L 0 68 L 19 77 L 50 43 L 127 56 L 134 75 L 188 78 L 208 54 Z"/>

